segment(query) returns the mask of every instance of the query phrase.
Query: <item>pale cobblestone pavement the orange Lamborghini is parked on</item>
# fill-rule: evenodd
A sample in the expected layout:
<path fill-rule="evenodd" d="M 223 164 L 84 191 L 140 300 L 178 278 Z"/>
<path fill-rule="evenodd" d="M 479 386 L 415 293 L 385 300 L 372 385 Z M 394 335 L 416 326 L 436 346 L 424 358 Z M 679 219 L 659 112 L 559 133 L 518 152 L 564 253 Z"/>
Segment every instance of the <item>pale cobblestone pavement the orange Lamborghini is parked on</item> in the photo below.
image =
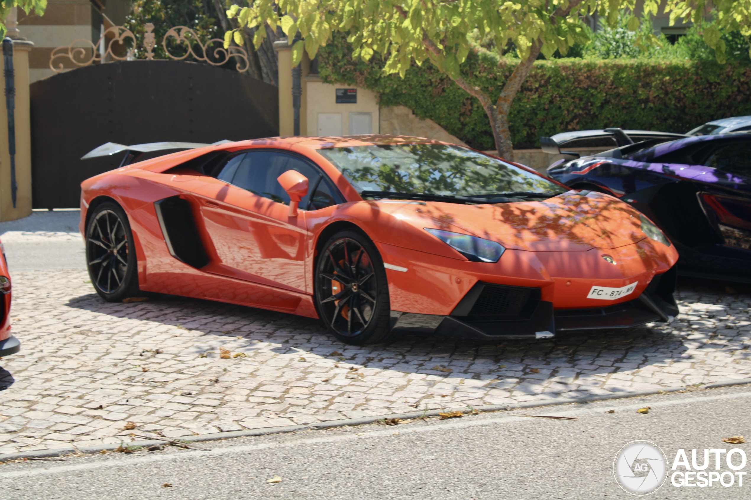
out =
<path fill-rule="evenodd" d="M 0 454 L 751 374 L 751 289 L 722 284 L 683 283 L 683 316 L 667 326 L 503 343 L 414 335 L 353 347 L 316 320 L 249 307 L 108 304 L 88 280 L 78 270 L 14 275 L 23 350 L 0 360 Z"/>

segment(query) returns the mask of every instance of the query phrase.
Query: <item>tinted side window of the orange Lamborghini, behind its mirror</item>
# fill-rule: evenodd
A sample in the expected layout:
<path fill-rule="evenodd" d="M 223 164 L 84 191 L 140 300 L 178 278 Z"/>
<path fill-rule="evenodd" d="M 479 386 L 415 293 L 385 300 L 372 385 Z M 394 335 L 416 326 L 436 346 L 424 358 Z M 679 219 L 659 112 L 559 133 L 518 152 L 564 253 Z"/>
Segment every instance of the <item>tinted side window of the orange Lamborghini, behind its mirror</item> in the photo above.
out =
<path fill-rule="evenodd" d="M 276 180 L 288 170 L 297 170 L 308 178 L 310 190 L 318 184 L 321 174 L 305 160 L 276 151 L 249 151 L 243 161 L 237 166 L 237 171 L 232 177 L 231 184 L 251 193 L 273 199 L 275 202 L 289 204 L 289 196 Z M 301 207 L 308 206 L 312 193 L 308 194 L 300 202 Z"/>

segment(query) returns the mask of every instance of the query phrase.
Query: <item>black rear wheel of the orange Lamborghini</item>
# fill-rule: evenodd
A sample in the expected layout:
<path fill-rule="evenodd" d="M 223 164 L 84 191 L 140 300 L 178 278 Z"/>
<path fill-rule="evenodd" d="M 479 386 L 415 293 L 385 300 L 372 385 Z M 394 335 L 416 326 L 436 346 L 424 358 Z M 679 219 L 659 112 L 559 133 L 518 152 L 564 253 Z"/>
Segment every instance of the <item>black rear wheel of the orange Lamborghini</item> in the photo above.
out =
<path fill-rule="evenodd" d="M 138 292 L 133 235 L 128 216 L 115 203 L 98 205 L 86 226 L 86 267 L 105 301 L 119 302 Z"/>

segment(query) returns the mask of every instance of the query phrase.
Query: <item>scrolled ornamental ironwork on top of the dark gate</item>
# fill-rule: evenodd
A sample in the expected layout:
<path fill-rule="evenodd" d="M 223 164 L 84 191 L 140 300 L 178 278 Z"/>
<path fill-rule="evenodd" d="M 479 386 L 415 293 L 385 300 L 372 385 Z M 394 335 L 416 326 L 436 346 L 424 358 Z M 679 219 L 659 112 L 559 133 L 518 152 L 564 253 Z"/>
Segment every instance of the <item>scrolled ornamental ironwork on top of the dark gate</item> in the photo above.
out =
<path fill-rule="evenodd" d="M 147 22 L 144 25 L 146 33 L 143 34 L 143 49 L 146 51 L 146 59 L 150 61 L 157 60 L 154 57 L 156 47 L 156 35 L 152 32 L 154 25 Z M 57 47 L 53 49 L 50 55 L 50 69 L 56 73 L 62 73 L 65 70 L 65 61 L 71 61 L 77 67 L 99 64 L 105 61 L 132 61 L 134 60 L 134 49 L 125 49 L 128 40 L 131 47 L 136 46 L 136 37 L 132 31 L 122 26 L 112 26 L 102 33 L 97 43 L 86 38 L 75 40 L 68 46 Z M 167 46 L 169 41 L 173 41 L 173 49 L 176 46 L 183 46 L 185 54 L 175 55 L 170 52 Z M 192 56 L 196 61 L 204 61 L 212 66 L 222 66 L 230 58 L 237 62 L 235 69 L 244 73 L 249 69 L 248 52 L 242 46 L 224 47 L 224 41 L 220 38 L 212 38 L 206 43 L 201 43 L 198 34 L 187 26 L 175 26 L 170 28 L 164 38 L 161 40 L 161 46 L 164 53 L 173 61 L 182 61 Z M 80 44 L 83 43 L 83 46 Z M 113 44 L 115 44 L 113 46 Z M 167 60 L 167 59 L 164 59 Z"/>

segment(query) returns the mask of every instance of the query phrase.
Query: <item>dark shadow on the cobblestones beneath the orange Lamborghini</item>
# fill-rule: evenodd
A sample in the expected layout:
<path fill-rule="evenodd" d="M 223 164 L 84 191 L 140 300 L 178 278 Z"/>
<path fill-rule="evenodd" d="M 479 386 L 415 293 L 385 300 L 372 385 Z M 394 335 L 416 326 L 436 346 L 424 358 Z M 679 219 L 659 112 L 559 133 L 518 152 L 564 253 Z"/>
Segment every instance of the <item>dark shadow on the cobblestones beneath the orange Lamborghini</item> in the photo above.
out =
<path fill-rule="evenodd" d="M 551 340 L 461 340 L 409 334 L 391 343 L 348 346 L 331 337 L 317 319 L 253 307 L 167 296 L 131 304 L 113 304 L 92 293 L 68 301 L 69 307 L 118 318 L 139 319 L 198 330 L 204 336 L 237 337 L 278 343 L 278 354 L 306 352 L 361 367 L 426 373 L 444 378 L 517 377 L 543 382 L 554 376 L 606 375 L 617 364 L 646 367 L 685 358 L 683 340 L 668 328 L 626 328 L 557 334 Z M 200 337 L 202 338 L 202 337 Z M 195 354 L 214 351 L 197 341 Z M 252 349 L 251 349 L 252 350 Z M 249 352 L 250 354 L 250 352 Z"/>

